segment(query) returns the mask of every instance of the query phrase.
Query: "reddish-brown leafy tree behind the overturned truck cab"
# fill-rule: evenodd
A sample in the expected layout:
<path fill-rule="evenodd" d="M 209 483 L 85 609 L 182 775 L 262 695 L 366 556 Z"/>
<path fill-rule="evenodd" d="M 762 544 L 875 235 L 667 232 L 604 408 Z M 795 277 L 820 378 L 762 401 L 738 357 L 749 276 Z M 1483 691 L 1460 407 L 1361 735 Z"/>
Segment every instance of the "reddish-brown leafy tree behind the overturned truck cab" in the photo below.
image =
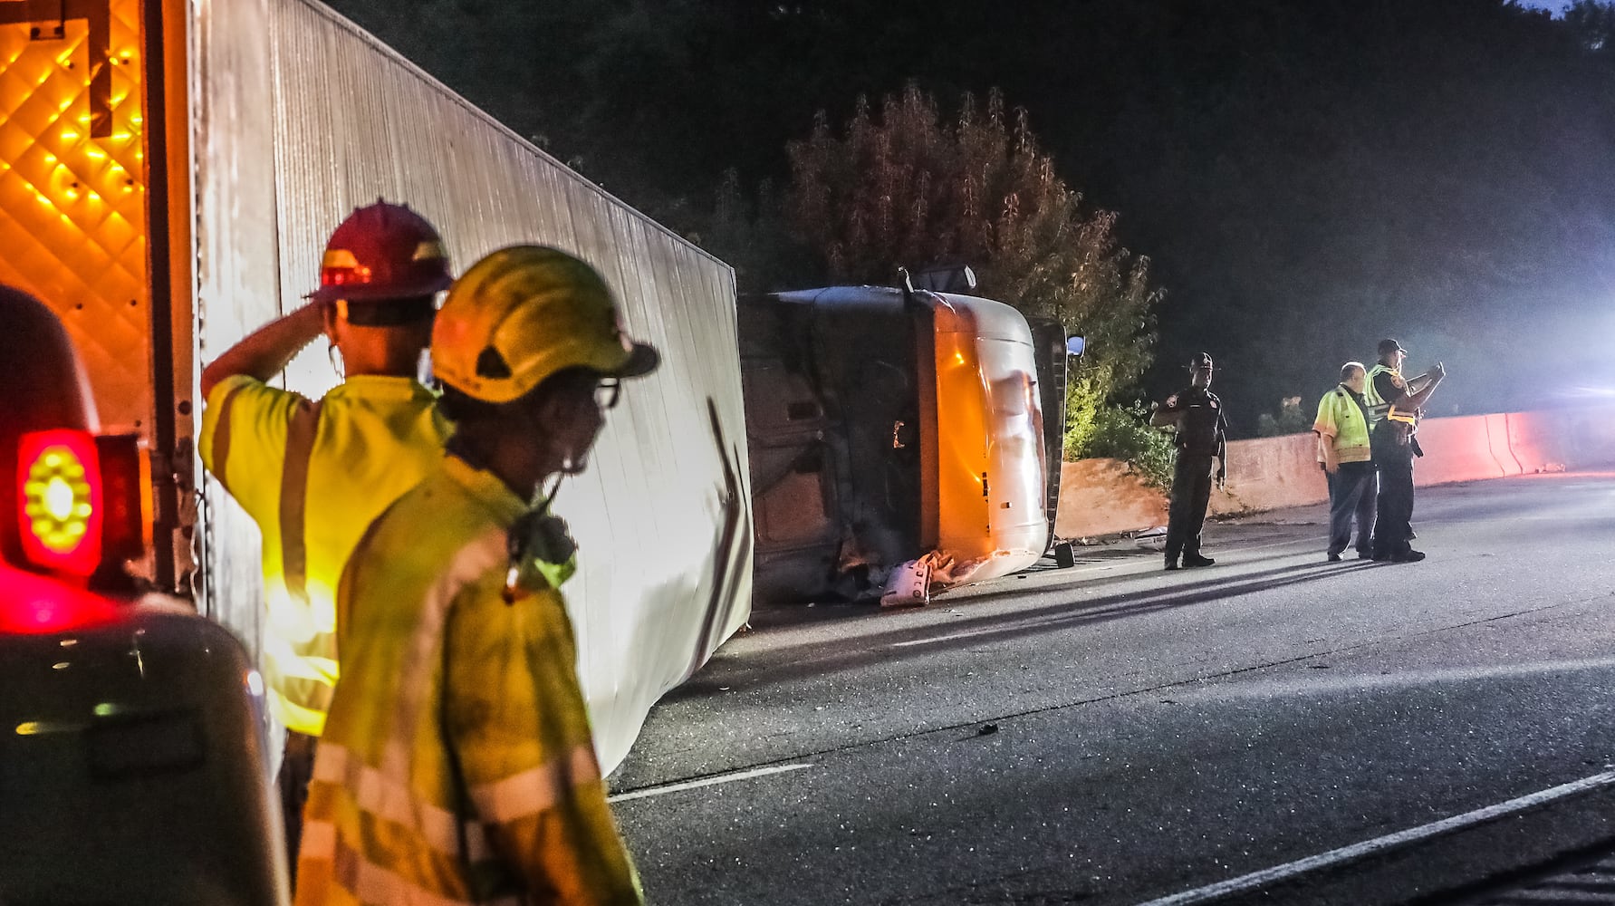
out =
<path fill-rule="evenodd" d="M 1068 405 L 1072 444 L 1093 413 L 1150 360 L 1150 262 L 1116 239 L 1116 215 L 1084 205 L 1055 173 L 1027 113 L 964 95 L 943 121 L 909 84 L 879 115 L 859 100 L 840 132 L 820 113 L 788 145 L 787 221 L 835 283 L 888 283 L 911 270 L 967 263 L 980 292 L 1027 315 L 1059 318 L 1089 339 Z"/>

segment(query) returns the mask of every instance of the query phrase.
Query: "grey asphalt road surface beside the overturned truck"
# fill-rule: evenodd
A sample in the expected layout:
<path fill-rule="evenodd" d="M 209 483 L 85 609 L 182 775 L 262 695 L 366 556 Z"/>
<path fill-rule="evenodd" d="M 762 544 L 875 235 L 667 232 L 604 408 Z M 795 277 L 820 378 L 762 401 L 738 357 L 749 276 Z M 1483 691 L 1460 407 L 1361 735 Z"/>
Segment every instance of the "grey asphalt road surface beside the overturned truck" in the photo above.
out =
<path fill-rule="evenodd" d="M 1444 903 L 1615 840 L 1615 475 L 1420 491 L 1423 564 L 1324 522 L 759 612 L 612 777 L 648 900 Z"/>

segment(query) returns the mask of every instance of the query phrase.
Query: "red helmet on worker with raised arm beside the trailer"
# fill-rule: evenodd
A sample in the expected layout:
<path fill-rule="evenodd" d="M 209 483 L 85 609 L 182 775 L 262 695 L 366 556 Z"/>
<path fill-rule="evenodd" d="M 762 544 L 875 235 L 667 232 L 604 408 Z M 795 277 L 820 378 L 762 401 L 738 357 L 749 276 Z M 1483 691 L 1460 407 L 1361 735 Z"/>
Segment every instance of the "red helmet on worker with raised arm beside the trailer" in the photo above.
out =
<path fill-rule="evenodd" d="M 449 287 L 449 255 L 443 237 L 409 205 L 355 208 L 331 233 L 320 262 L 320 302 L 378 302 L 431 296 Z"/>

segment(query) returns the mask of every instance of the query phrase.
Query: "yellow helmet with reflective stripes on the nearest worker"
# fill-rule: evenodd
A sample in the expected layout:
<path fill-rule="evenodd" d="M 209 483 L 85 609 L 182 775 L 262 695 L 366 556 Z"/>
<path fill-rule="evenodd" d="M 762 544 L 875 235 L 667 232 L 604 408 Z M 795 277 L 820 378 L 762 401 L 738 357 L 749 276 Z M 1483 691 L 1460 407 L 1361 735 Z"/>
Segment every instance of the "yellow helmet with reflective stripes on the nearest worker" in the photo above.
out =
<path fill-rule="evenodd" d="M 449 287 L 431 329 L 438 380 L 483 402 L 512 402 L 556 371 L 648 375 L 661 354 L 628 339 L 617 302 L 585 262 L 544 245 L 510 245 Z"/>

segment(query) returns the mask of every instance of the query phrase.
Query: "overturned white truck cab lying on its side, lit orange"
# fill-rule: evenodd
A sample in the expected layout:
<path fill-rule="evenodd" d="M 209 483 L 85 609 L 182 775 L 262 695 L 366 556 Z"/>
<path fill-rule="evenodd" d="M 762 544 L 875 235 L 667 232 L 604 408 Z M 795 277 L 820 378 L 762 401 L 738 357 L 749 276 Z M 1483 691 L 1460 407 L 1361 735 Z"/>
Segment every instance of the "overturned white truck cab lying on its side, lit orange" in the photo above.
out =
<path fill-rule="evenodd" d="M 761 601 L 880 596 L 916 559 L 916 581 L 945 589 L 1045 552 L 1058 323 L 959 292 L 837 286 L 743 299 L 740 342 Z"/>

